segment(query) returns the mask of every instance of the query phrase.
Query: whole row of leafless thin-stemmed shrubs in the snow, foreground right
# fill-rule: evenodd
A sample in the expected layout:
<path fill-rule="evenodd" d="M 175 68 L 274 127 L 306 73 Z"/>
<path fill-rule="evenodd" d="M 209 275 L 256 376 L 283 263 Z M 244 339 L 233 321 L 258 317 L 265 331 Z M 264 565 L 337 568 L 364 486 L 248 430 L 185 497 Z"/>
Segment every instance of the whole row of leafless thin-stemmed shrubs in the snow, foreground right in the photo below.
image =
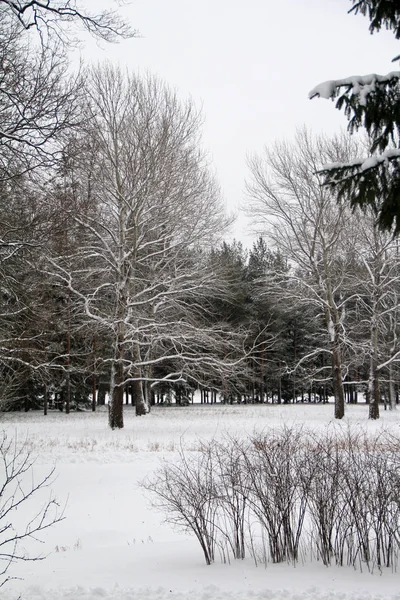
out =
<path fill-rule="evenodd" d="M 350 427 L 315 434 L 283 427 L 202 444 L 144 483 L 166 520 L 191 530 L 207 564 L 297 562 L 396 568 L 400 440 Z"/>

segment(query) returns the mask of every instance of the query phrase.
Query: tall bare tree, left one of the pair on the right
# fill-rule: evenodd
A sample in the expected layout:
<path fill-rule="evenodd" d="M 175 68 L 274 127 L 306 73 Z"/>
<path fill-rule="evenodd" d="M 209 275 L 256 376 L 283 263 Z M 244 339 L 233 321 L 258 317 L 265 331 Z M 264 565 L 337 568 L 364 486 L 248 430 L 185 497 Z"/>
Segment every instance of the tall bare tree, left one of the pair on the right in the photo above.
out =
<path fill-rule="evenodd" d="M 249 160 L 248 213 L 262 233 L 291 263 L 281 293 L 294 302 L 313 304 L 324 319 L 335 396 L 335 417 L 344 416 L 342 349 L 345 332 L 344 293 L 351 259 L 351 214 L 321 186 L 321 164 L 349 156 L 344 138 L 328 141 L 297 134 L 293 144 L 277 143 L 262 157 Z M 315 354 L 315 350 L 313 350 Z"/>

